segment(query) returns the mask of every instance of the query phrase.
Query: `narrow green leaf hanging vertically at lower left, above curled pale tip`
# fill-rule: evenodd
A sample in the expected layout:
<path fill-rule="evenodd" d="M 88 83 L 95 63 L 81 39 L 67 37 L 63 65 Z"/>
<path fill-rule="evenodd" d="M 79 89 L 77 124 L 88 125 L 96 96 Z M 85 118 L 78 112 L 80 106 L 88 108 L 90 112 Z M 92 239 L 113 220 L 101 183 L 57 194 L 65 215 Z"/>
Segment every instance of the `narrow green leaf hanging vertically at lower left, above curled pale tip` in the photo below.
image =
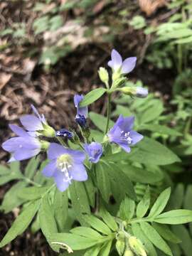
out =
<path fill-rule="evenodd" d="M 46 196 L 42 198 L 41 208 L 38 212 L 38 216 L 43 235 L 45 235 L 46 240 L 48 240 L 50 247 L 55 250 L 54 245 L 51 245 L 49 239 L 50 234 L 58 232 L 58 228 L 53 215 L 53 208 L 50 206 L 50 203 L 48 201 L 48 196 L 49 195 L 47 193 Z"/>

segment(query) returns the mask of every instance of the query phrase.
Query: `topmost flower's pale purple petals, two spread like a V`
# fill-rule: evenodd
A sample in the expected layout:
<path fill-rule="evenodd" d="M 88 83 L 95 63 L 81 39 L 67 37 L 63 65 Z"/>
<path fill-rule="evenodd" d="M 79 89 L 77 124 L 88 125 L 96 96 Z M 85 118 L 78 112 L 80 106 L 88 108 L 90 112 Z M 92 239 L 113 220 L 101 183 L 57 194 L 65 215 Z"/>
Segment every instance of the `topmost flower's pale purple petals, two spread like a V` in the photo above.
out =
<path fill-rule="evenodd" d="M 122 56 L 114 49 L 112 50 L 111 58 L 108 65 L 112 70 L 115 72 L 119 71 L 121 74 L 130 73 L 134 69 L 137 60 L 136 57 L 130 57 L 122 61 Z"/>

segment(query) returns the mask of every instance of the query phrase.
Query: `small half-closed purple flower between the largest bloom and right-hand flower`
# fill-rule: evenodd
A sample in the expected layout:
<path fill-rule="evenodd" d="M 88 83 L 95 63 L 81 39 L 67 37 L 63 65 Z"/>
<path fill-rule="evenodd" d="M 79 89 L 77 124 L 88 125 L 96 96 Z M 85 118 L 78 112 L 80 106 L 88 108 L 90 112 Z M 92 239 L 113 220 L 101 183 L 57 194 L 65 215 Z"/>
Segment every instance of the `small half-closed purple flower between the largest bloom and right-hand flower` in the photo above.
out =
<path fill-rule="evenodd" d="M 89 161 L 92 163 L 97 163 L 102 156 L 102 145 L 97 142 L 92 142 L 91 144 L 84 145 L 85 152 L 89 156 Z"/>

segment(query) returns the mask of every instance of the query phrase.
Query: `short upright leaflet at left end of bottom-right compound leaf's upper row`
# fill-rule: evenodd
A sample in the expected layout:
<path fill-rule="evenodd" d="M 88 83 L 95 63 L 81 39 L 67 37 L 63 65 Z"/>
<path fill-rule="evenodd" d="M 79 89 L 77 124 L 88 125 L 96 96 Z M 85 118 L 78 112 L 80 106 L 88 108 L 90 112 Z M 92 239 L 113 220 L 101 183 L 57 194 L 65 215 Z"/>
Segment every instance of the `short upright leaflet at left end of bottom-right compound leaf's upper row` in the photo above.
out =
<path fill-rule="evenodd" d="M 130 198 L 124 198 L 124 201 L 120 204 L 118 216 L 122 220 L 131 220 L 134 216 L 135 203 Z"/>

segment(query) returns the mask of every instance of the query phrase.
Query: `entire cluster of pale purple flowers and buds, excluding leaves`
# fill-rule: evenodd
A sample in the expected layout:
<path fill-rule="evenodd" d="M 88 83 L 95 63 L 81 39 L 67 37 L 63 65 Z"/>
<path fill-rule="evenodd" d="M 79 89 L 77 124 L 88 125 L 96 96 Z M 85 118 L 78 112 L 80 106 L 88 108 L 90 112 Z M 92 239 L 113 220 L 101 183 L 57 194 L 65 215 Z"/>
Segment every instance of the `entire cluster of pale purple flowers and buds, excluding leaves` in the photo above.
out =
<path fill-rule="evenodd" d="M 137 58 L 132 57 L 122 61 L 121 55 L 116 50 L 112 50 L 111 58 L 108 65 L 112 68 L 112 82 L 116 82 L 117 90 L 129 95 L 146 97 L 148 93 L 146 89 L 141 87 L 134 89 L 119 87 L 120 84 L 118 83 L 119 78 L 134 69 Z M 102 81 L 105 82 L 108 89 L 107 93 L 110 95 L 113 90 L 108 85 L 109 75 L 107 70 L 100 68 L 99 75 Z M 110 116 L 107 115 L 107 132 L 104 134 L 103 142 L 95 142 L 90 136 L 90 129 L 87 125 L 88 108 L 87 106 L 81 107 L 83 100 L 83 95 L 75 95 L 74 97 L 74 105 L 77 109 L 75 122 L 80 128 L 80 137 L 75 131 L 69 131 L 65 128 L 55 131 L 48 124 L 44 115 L 39 114 L 36 108 L 31 105 L 33 114 L 26 114 L 20 118 L 23 128 L 15 124 L 9 126 L 17 135 L 17 137 L 8 139 L 2 144 L 3 149 L 11 153 L 9 161 L 30 159 L 41 151 L 46 151 L 49 163 L 43 169 L 42 174 L 46 177 L 53 177 L 58 189 L 65 191 L 73 180 L 87 180 L 85 161 L 90 161 L 90 164 L 97 164 L 105 155 L 106 144 L 111 144 L 111 146 L 116 144 L 124 151 L 130 152 L 131 146 L 134 146 L 143 138 L 141 134 L 133 130 L 134 117 L 124 118 L 120 115 L 112 129 L 109 130 Z M 54 141 L 48 142 L 45 138 L 49 138 L 49 141 L 50 138 L 58 139 L 60 144 Z M 81 142 L 81 138 L 84 142 Z M 73 149 L 69 148 L 68 140 L 71 141 L 70 145 L 76 144 Z M 79 150 L 76 150 L 77 146 L 79 146 Z"/>

